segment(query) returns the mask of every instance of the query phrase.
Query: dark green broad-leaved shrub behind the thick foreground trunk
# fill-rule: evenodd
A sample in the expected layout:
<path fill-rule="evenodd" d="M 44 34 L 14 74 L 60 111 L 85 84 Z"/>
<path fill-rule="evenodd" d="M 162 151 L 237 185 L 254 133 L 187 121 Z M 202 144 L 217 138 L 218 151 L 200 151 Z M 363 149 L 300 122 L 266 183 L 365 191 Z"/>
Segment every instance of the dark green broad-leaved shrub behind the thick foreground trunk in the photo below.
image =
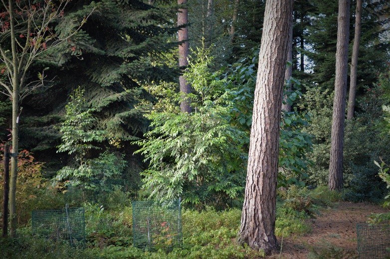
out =
<path fill-rule="evenodd" d="M 256 84 L 256 67 L 258 64 L 258 50 L 251 56 L 241 59 L 233 64 L 226 74 L 228 87 L 233 94 L 231 109 L 233 126 L 240 130 L 250 132 L 252 125 L 253 98 Z M 301 84 L 298 80 L 290 78 L 286 85 L 293 85 L 292 91 L 286 91 L 286 102 L 290 105 L 301 99 Z M 303 185 L 311 161 L 307 154 L 312 151 L 312 135 L 304 129 L 309 126 L 310 115 L 306 112 L 284 112 L 282 114 L 280 141 L 279 141 L 279 173 L 278 185 Z M 249 139 L 247 139 L 249 140 Z M 248 152 L 249 142 L 246 143 Z"/>

